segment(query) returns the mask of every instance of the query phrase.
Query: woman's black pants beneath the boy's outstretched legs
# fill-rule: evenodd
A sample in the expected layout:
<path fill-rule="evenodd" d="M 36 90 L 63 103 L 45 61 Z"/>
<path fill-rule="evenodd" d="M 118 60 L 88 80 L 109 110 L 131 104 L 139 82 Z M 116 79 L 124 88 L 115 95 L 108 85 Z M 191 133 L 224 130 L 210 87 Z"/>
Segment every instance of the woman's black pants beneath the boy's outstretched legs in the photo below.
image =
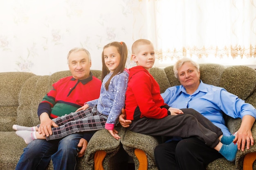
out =
<path fill-rule="evenodd" d="M 195 137 L 159 144 L 155 148 L 159 170 L 205 170 L 208 163 L 221 157 L 218 151 Z"/>

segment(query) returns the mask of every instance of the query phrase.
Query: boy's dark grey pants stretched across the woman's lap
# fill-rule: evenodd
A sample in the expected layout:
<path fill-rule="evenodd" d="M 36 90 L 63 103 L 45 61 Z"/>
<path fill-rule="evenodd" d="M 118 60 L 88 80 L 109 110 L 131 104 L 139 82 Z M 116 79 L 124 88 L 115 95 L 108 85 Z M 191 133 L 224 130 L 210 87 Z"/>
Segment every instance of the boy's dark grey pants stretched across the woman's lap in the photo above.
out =
<path fill-rule="evenodd" d="M 181 109 L 184 114 L 168 115 L 162 119 L 143 117 L 132 121 L 130 130 L 152 136 L 179 136 L 183 138 L 197 137 L 207 146 L 214 148 L 220 142 L 220 128 L 209 119 L 191 108 Z"/>

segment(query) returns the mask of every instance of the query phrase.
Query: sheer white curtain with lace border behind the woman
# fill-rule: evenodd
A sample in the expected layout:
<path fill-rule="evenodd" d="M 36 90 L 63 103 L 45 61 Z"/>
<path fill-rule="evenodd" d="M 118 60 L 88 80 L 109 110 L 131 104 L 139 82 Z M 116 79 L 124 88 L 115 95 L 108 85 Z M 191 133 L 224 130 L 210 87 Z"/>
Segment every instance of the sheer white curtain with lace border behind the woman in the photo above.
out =
<path fill-rule="evenodd" d="M 155 66 L 181 57 L 256 64 L 256 0 L 155 0 Z M 152 21 L 151 21 L 152 22 Z M 246 63 L 242 63 L 245 64 Z"/>

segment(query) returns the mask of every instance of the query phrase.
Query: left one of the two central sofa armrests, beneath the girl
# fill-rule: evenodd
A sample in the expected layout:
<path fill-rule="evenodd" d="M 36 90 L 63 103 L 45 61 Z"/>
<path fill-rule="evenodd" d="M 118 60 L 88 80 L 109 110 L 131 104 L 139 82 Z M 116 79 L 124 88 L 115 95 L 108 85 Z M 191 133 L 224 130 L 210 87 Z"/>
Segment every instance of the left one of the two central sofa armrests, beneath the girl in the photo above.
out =
<path fill-rule="evenodd" d="M 115 126 L 115 129 L 118 131 L 118 135 L 123 138 L 125 128 Z M 110 159 L 119 151 L 121 147 L 120 144 L 120 139 L 114 139 L 106 129 L 101 129 L 95 132 L 85 151 L 85 162 L 87 162 L 90 167 L 87 169 L 94 170 L 94 155 L 97 152 L 96 157 L 98 158 L 96 158 L 96 160 L 103 160 L 102 165 L 104 170 L 111 170 L 115 162 L 110 161 Z M 106 157 L 99 158 L 102 156 L 101 153 L 103 153 L 99 151 L 106 152 Z M 99 165 L 99 162 L 96 164 Z"/>

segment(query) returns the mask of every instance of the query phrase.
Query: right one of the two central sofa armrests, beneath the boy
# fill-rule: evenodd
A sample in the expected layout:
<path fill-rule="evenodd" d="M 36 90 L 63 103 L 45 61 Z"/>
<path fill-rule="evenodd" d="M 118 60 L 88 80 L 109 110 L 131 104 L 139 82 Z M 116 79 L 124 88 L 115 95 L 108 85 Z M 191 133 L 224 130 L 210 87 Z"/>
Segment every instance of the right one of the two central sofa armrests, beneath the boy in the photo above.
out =
<path fill-rule="evenodd" d="M 145 152 L 148 159 L 148 170 L 157 170 L 154 150 L 159 144 L 157 138 L 126 130 L 124 138 L 121 138 L 124 150 L 133 158 L 135 169 L 139 168 L 139 160 L 135 155 L 135 149 Z"/>

